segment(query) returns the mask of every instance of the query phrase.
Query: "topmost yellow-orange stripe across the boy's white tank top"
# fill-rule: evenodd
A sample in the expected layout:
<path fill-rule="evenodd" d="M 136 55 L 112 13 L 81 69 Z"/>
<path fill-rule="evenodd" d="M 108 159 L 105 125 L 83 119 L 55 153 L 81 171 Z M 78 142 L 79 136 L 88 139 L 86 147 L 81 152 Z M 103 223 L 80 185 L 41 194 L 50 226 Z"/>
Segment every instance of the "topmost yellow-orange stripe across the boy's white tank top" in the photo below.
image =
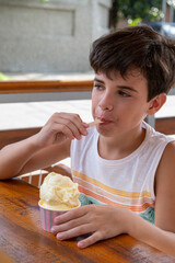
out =
<path fill-rule="evenodd" d="M 108 193 L 112 193 L 114 195 L 118 195 L 118 196 L 124 196 L 124 197 L 130 197 L 130 198 L 139 198 L 139 197 L 143 197 L 143 196 L 148 196 L 151 197 L 151 194 L 147 191 L 143 192 L 127 192 L 127 191 L 121 191 L 121 190 L 116 190 L 114 187 L 107 186 L 103 183 L 101 183 L 100 181 L 89 178 L 88 175 L 80 173 L 78 171 L 72 170 L 72 175 L 82 179 L 83 181 L 86 181 L 97 187 L 101 187 L 103 190 L 105 190 Z"/>

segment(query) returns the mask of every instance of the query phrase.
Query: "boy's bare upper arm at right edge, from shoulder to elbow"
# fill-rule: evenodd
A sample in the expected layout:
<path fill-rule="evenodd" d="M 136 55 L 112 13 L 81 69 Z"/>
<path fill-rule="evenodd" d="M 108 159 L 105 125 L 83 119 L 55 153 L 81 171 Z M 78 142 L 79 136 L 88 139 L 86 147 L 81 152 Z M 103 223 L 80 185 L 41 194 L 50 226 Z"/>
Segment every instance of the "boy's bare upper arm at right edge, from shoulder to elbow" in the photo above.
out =
<path fill-rule="evenodd" d="M 155 176 L 155 225 L 175 233 L 175 142 L 162 156 Z"/>

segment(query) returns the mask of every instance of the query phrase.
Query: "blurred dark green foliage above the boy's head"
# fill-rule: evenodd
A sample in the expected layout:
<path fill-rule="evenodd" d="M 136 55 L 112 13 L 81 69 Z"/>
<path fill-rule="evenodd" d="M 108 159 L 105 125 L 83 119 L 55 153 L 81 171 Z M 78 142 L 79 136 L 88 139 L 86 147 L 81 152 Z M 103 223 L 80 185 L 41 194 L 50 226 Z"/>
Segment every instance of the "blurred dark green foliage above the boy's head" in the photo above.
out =
<path fill-rule="evenodd" d="M 160 21 L 162 19 L 161 0 L 118 0 L 118 14 L 130 24 L 141 21 Z"/>

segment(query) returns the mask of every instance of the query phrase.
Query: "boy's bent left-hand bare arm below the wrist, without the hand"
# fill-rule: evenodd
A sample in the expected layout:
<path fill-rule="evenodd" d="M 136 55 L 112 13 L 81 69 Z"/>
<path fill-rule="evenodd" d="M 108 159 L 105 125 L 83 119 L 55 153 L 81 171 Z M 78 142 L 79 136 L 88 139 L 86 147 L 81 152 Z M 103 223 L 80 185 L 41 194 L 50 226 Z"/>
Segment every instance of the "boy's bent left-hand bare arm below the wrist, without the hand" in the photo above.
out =
<path fill-rule="evenodd" d="M 9 145 L 0 152 L 0 179 L 18 176 L 49 167 L 69 157 L 69 149 L 70 140 L 42 148 L 35 144 L 34 137 Z"/>

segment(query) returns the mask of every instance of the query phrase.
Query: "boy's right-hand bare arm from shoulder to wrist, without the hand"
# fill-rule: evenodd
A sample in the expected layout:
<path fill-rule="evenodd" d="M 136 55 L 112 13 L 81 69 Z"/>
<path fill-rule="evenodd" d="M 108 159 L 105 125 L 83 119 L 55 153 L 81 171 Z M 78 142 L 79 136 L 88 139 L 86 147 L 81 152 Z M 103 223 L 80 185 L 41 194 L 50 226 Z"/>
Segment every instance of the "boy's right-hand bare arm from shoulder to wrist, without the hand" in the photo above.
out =
<path fill-rule="evenodd" d="M 130 235 L 175 256 L 175 142 L 167 145 L 159 164 L 155 195 L 155 226 L 133 217 Z"/>

